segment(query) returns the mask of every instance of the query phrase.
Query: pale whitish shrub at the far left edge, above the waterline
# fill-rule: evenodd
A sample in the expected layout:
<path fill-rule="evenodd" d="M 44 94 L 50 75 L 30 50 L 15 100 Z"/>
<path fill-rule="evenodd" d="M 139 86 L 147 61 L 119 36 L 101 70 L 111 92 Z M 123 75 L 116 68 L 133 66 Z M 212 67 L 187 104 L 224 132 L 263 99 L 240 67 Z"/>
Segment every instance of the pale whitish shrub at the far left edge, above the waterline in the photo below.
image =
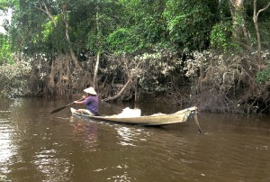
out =
<path fill-rule="evenodd" d="M 14 64 L 0 66 L 0 96 L 14 97 L 30 94 L 29 79 L 31 64 L 28 61 L 16 61 Z"/>

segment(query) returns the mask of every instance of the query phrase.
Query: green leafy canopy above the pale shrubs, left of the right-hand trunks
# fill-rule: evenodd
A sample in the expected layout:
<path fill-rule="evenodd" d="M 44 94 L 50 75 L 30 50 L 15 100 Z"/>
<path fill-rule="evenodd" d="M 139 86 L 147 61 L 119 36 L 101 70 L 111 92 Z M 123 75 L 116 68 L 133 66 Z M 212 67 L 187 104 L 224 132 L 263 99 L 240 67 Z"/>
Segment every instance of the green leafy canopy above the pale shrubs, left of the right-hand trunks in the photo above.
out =
<path fill-rule="evenodd" d="M 41 2 L 14 3 L 10 31 L 14 50 L 67 52 L 63 16 L 68 17 L 69 37 L 78 52 L 134 53 L 157 45 L 191 50 L 209 41 L 216 10 L 210 0 L 44 1 L 57 23 L 54 27 L 48 14 L 40 10 L 45 10 Z"/>

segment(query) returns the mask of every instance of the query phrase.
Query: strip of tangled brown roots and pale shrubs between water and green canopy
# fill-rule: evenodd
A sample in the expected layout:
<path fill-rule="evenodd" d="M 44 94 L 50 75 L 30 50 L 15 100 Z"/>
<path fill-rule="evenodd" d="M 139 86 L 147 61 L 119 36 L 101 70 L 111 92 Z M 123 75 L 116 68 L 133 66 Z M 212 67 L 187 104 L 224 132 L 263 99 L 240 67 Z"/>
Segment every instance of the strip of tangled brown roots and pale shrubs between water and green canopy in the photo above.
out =
<path fill-rule="evenodd" d="M 159 59 L 154 55 L 148 55 L 148 59 L 115 57 L 116 62 L 130 63 L 130 71 L 119 64 L 113 75 L 116 69 L 103 72 L 105 68 L 101 67 L 95 85 L 100 98 L 108 102 L 150 100 L 164 105 L 197 105 L 211 113 L 269 114 L 269 85 L 264 77 L 268 69 L 254 64 L 252 55 L 203 51 L 182 58 L 175 54 L 171 57 L 175 61 L 161 67 L 171 67 L 166 74 L 161 74 L 158 68 L 148 68 L 151 61 L 162 63 L 168 59 L 166 55 Z M 266 60 L 270 59 L 268 57 Z M 49 62 L 36 57 L 0 66 L 1 96 L 74 97 L 83 94 L 85 87 L 94 86 L 93 72 L 87 61 L 79 70 L 70 62 L 67 64 L 68 60 L 68 56 L 63 55 Z"/>

